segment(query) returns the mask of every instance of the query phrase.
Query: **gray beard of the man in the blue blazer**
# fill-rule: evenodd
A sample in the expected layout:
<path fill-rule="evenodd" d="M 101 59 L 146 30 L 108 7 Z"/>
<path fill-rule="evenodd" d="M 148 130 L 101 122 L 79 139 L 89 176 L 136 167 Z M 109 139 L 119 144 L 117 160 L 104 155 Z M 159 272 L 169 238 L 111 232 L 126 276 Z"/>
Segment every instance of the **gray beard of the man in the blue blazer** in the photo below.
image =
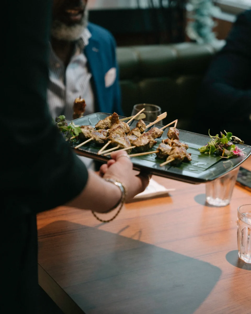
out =
<path fill-rule="evenodd" d="M 83 18 L 80 23 L 67 25 L 61 21 L 54 20 L 51 25 L 51 36 L 60 41 L 76 41 L 78 40 L 88 24 L 88 10 L 84 11 Z"/>

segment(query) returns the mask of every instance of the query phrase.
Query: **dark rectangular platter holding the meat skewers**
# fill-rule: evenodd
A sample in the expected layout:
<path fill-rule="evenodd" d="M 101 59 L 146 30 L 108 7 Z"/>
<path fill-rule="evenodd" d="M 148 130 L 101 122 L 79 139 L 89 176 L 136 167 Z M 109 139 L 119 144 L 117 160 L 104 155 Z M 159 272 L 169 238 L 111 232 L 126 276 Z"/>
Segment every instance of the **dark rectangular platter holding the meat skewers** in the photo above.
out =
<path fill-rule="evenodd" d="M 95 126 L 95 124 L 99 120 L 102 120 L 109 115 L 110 114 L 103 112 L 93 113 L 91 115 L 74 120 L 74 123 L 80 126 Z M 120 116 L 120 118 L 123 117 Z M 135 127 L 136 123 L 137 121 L 133 121 L 131 124 L 131 128 Z M 155 127 L 161 128 L 162 126 L 156 124 Z M 164 130 L 162 138 L 156 139 L 158 143 L 152 148 L 152 150 L 156 150 L 161 140 L 163 138 L 167 138 L 167 131 L 168 128 Z M 160 167 L 160 164 L 164 160 L 160 160 L 156 157 L 156 154 L 152 154 L 140 157 L 132 157 L 131 161 L 134 165 L 134 169 L 146 170 L 157 176 L 163 176 L 174 180 L 199 184 L 207 181 L 212 181 L 220 176 L 223 176 L 228 171 L 231 171 L 232 169 L 238 167 L 245 159 L 248 158 L 248 156 L 251 155 L 250 146 L 238 144 L 241 149 L 244 148 L 244 156 L 232 159 L 222 159 L 221 157 L 215 155 L 200 154 L 198 148 L 205 145 L 210 140 L 209 136 L 179 130 L 179 139 L 180 141 L 187 143 L 189 146 L 189 149 L 187 151 L 188 153 L 192 154 L 192 161 L 190 163 L 181 163 L 178 166 L 166 165 Z M 92 158 L 93 160 L 106 162 L 107 160 L 109 160 L 109 156 L 104 157 L 97 154 L 102 146 L 103 145 L 98 146 L 90 142 L 80 147 L 79 149 L 74 149 L 74 151 L 79 155 Z M 134 153 L 134 151 L 132 153 Z"/>

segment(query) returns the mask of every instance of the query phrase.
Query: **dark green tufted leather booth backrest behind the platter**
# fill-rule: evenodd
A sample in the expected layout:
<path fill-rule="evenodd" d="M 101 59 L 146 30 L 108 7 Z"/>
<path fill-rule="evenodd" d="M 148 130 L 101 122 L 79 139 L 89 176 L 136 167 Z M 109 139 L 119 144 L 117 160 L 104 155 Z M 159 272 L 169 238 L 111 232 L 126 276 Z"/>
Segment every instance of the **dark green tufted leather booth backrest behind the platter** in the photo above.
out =
<path fill-rule="evenodd" d="M 135 104 L 154 104 L 168 112 L 166 121 L 178 118 L 178 127 L 189 130 L 201 79 L 223 44 L 184 42 L 117 48 L 125 115 L 131 115 Z"/>

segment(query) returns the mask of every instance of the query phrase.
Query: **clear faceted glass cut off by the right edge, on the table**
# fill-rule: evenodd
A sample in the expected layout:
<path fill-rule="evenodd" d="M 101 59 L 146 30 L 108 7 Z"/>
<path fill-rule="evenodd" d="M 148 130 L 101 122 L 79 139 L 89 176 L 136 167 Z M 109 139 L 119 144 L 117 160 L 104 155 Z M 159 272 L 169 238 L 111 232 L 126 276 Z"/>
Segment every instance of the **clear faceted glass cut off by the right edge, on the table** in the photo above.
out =
<path fill-rule="evenodd" d="M 251 263 L 251 204 L 238 208 L 237 243 L 239 258 Z"/>

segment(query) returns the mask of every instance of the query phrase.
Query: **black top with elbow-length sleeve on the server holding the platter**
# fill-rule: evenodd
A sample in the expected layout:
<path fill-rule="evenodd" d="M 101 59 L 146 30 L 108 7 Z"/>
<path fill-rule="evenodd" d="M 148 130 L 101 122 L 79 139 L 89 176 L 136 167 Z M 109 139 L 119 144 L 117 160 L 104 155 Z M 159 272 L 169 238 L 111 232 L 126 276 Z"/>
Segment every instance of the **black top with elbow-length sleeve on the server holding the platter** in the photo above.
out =
<path fill-rule="evenodd" d="M 88 172 L 47 107 L 51 1 L 5 5 L 0 193 L 2 214 L 14 217 L 71 200 L 85 187 Z"/>

